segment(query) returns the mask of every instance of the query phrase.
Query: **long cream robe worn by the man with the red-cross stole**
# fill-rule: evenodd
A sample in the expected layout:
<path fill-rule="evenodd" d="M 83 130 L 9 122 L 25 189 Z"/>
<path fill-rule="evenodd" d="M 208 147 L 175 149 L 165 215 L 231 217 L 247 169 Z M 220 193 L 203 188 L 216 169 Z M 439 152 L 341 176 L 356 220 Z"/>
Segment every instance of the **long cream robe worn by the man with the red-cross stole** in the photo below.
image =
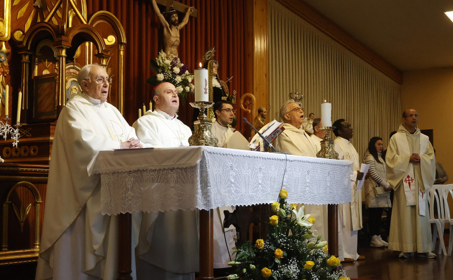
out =
<path fill-rule="evenodd" d="M 399 137 L 401 134 L 405 137 Z M 417 130 L 411 134 L 401 124 L 398 136 L 390 139 L 386 154 L 387 180 L 395 190 L 392 206 L 392 222 L 390 225 L 389 248 L 404 252 L 430 252 L 432 250 L 431 227 L 429 218 L 420 215 L 420 208 L 428 207 L 427 201 L 415 200 L 415 205 L 407 206 L 406 193 L 404 191 L 404 177 L 408 175 L 410 156 L 413 153 L 420 155 L 420 163 L 413 164 L 414 186 L 416 193 L 428 192 L 431 189 L 435 177 L 435 158 L 431 143 L 426 143 L 426 148 L 420 150 L 421 141 L 424 137 Z M 422 136 L 423 135 L 423 136 Z M 409 148 L 409 152 L 403 153 L 402 149 Z"/>

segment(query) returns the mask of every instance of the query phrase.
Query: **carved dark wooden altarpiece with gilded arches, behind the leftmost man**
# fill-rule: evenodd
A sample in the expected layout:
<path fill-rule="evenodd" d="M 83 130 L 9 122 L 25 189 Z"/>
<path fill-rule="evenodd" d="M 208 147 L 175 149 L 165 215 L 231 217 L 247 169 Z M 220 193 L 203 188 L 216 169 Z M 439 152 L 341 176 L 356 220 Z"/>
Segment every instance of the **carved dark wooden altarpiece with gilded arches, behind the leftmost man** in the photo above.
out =
<path fill-rule="evenodd" d="M 86 0 L 6 0 L 5 7 L 0 20 L 8 25 L 0 33 L 9 36 L 0 43 L 9 60 L 20 61 L 10 62 L 12 75 L 21 76 L 10 86 L 13 95 L 20 88 L 23 99 L 18 147 L 0 142 L 0 268 L 16 277 L 29 269 L 24 265 L 36 265 L 55 122 L 70 95 L 81 90 L 83 65 L 106 68 L 113 77 L 108 102 L 123 113 L 126 36 L 113 14 L 87 15 Z"/>

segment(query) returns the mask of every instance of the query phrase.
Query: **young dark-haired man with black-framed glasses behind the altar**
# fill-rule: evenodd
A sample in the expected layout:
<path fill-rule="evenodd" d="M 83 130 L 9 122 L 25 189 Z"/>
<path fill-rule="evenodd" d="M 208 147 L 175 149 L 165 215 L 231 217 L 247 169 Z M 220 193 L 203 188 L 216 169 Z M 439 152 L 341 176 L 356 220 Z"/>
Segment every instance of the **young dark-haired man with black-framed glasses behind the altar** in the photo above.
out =
<path fill-rule="evenodd" d="M 217 146 L 223 147 L 234 133 L 228 126 L 233 123 L 236 110 L 233 109 L 233 103 L 221 100 L 214 104 L 212 111 L 214 111 L 215 122 L 212 123 L 211 132 L 217 137 Z"/>

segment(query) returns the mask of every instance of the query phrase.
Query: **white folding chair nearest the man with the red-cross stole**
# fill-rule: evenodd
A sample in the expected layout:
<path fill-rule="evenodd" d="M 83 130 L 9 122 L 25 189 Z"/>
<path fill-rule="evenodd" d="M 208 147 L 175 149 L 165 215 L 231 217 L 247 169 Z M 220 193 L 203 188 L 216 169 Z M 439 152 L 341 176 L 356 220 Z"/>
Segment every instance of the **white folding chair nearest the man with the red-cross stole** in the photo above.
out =
<path fill-rule="evenodd" d="M 436 192 L 437 191 L 437 192 Z M 443 229 L 445 227 L 445 223 L 448 220 L 445 219 L 445 208 L 443 205 L 443 195 L 439 195 L 443 193 L 442 185 L 433 185 L 432 188 L 428 191 L 428 201 L 429 201 L 429 222 L 431 224 L 435 224 L 434 232 L 432 234 L 432 250 L 435 250 L 436 247 L 436 237 L 439 236 L 439 254 L 440 250 L 442 250 L 443 254 L 446 255 L 445 249 L 445 242 L 443 241 Z M 437 206 L 437 214 L 438 218 L 434 217 L 434 202 L 436 202 Z"/>

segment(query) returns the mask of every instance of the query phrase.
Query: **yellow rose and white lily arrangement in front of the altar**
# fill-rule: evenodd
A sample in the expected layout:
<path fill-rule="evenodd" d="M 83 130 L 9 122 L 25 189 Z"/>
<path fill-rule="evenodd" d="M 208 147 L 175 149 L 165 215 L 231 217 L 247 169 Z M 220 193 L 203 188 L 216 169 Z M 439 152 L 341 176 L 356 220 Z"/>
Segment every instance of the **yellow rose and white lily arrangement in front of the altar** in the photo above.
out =
<path fill-rule="evenodd" d="M 304 206 L 288 205 L 288 192 L 282 190 L 279 202 L 274 202 L 269 219 L 267 240 L 255 244 L 246 242 L 238 247 L 236 274 L 228 279 L 329 279 L 347 280 L 344 270 L 337 271 L 340 260 L 327 254 L 327 241 L 310 231 L 315 218 L 304 214 Z"/>

